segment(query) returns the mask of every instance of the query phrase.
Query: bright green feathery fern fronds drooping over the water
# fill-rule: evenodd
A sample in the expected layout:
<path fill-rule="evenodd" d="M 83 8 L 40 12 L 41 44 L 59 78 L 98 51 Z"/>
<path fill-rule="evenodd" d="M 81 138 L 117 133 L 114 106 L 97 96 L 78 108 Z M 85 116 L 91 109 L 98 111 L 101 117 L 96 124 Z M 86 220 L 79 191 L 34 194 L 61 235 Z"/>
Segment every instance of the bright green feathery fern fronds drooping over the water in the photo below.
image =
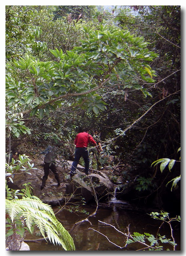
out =
<path fill-rule="evenodd" d="M 6 199 L 6 212 L 12 222 L 23 218 L 31 233 L 31 227 L 37 226 L 42 236 L 47 235 L 54 245 L 61 245 L 65 250 L 75 250 L 71 235 L 56 219 L 52 207 L 39 198 L 31 196 L 22 199 Z"/>

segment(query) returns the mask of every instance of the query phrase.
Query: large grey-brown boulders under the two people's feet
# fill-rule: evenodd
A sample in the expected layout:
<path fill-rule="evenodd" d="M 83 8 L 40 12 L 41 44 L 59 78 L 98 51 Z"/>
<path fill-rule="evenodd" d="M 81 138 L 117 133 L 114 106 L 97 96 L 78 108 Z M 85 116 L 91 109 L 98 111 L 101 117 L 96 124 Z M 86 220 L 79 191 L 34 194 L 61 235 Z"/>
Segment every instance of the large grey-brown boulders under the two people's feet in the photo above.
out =
<path fill-rule="evenodd" d="M 33 188 L 33 195 L 40 198 L 44 203 L 50 205 L 57 205 L 66 201 L 69 195 L 74 193 L 78 198 L 85 198 L 86 202 L 91 201 L 94 198 L 94 191 L 90 181 L 95 185 L 95 191 L 98 198 L 107 197 L 107 195 L 113 191 L 112 182 L 109 180 L 106 174 L 93 170 L 93 174 L 85 176 L 82 172 L 84 167 L 77 165 L 77 174 L 70 179 L 70 170 L 72 161 L 58 161 L 57 160 L 57 172 L 60 177 L 61 185 L 57 186 L 54 174 L 50 171 L 46 186 L 41 190 L 42 177 L 44 175 L 43 159 L 41 156 L 39 159 L 33 159 L 34 167 L 37 169 L 31 170 L 31 175 L 25 172 L 15 174 L 13 178 L 14 185 L 17 185 L 20 189 L 23 188 L 24 183 L 31 183 Z M 91 178 L 91 179 L 90 179 Z M 88 180 L 87 180 L 88 179 Z"/>

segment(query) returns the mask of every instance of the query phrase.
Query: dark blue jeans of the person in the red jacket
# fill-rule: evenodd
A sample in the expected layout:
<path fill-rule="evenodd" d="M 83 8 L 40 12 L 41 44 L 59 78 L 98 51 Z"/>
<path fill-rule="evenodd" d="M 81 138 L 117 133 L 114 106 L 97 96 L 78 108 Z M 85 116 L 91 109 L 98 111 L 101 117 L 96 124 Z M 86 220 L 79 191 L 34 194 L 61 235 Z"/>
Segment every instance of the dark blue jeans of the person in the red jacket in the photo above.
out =
<path fill-rule="evenodd" d="M 87 150 L 87 148 L 76 148 L 75 149 L 75 157 L 72 163 L 72 168 L 71 168 L 71 173 L 75 173 L 76 171 L 76 167 L 77 164 L 80 160 L 80 158 L 83 158 L 84 162 L 85 162 L 85 173 L 88 174 L 89 173 L 89 152 Z"/>

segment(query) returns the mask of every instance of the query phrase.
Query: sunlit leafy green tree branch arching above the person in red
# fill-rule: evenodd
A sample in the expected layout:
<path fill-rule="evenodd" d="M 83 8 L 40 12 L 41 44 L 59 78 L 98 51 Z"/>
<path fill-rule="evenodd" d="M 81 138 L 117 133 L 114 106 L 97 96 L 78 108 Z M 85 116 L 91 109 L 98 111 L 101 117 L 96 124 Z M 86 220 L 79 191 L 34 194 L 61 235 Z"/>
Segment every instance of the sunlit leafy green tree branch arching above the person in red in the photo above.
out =
<path fill-rule="evenodd" d="M 96 31 L 83 27 L 83 32 L 86 39 L 72 51 L 50 50 L 56 61 L 40 61 L 26 54 L 7 64 L 7 105 L 16 103 L 23 114 L 37 114 L 42 119 L 73 97 L 77 105 L 84 102 L 82 108 L 97 113 L 105 104 L 94 92 L 109 80 L 125 79 L 126 87 L 131 76 L 154 82 L 155 72 L 148 63 L 157 54 L 148 51 L 143 37 L 114 26 L 100 26 Z M 150 95 L 142 86 L 138 89 Z"/>

